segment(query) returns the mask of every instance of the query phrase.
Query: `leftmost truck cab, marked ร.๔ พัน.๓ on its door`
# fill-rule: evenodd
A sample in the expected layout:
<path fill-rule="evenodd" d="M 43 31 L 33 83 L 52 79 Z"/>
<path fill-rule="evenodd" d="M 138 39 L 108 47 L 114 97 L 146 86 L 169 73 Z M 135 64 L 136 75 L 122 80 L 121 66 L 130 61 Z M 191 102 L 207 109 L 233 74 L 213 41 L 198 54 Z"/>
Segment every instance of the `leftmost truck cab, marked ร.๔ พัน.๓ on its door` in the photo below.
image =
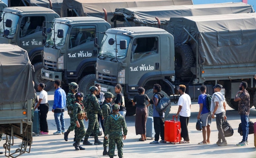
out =
<path fill-rule="evenodd" d="M 44 7 L 7 7 L 0 13 L 0 43 L 15 44 L 27 50 L 29 59 L 34 66 L 33 80 L 35 87 L 40 82 L 46 83 L 49 90 L 53 82 L 41 78 L 43 45 L 43 22 L 51 22 L 59 15 Z M 44 23 L 50 27 L 50 23 Z"/>

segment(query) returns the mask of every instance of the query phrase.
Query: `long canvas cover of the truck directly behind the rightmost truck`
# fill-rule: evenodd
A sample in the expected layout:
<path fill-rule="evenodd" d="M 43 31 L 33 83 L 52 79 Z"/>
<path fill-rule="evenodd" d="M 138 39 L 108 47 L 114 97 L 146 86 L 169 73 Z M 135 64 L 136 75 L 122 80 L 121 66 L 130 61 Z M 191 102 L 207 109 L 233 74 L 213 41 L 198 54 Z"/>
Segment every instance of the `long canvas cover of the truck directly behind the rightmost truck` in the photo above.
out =
<path fill-rule="evenodd" d="M 132 21 L 136 24 L 158 25 L 155 17 L 160 19 L 161 25 L 167 24 L 172 17 L 217 15 L 232 13 L 252 13 L 251 5 L 239 3 L 216 3 L 216 4 L 197 4 L 197 5 L 173 5 L 173 6 L 152 6 L 137 8 L 116 8 L 111 22 Z"/>

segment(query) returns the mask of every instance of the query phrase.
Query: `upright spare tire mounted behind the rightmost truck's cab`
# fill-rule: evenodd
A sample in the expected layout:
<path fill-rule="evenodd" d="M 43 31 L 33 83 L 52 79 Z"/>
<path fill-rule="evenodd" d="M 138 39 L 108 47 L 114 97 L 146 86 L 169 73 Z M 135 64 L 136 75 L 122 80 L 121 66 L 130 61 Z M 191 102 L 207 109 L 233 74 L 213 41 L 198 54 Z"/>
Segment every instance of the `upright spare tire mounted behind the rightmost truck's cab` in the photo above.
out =
<path fill-rule="evenodd" d="M 188 77 L 191 75 L 190 68 L 194 65 L 194 55 L 188 44 L 175 45 L 175 75 Z"/>

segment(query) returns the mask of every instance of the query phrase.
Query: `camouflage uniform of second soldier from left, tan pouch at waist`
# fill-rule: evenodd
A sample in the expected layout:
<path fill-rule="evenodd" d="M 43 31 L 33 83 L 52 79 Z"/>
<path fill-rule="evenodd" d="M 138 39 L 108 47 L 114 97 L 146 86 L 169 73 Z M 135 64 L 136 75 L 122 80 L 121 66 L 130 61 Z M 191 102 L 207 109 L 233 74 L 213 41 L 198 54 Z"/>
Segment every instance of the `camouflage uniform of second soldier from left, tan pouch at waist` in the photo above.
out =
<path fill-rule="evenodd" d="M 75 129 L 75 133 L 77 133 L 76 143 L 79 143 L 81 139 L 84 137 L 84 135 L 86 134 L 83 119 L 81 120 L 78 119 L 78 114 L 81 114 L 81 113 L 84 113 L 83 104 L 82 102 L 79 102 L 79 100 L 75 100 L 75 103 L 73 104 L 73 119 L 74 119 L 74 122 L 78 121 L 80 124 L 80 127 L 79 128 L 77 127 Z"/>

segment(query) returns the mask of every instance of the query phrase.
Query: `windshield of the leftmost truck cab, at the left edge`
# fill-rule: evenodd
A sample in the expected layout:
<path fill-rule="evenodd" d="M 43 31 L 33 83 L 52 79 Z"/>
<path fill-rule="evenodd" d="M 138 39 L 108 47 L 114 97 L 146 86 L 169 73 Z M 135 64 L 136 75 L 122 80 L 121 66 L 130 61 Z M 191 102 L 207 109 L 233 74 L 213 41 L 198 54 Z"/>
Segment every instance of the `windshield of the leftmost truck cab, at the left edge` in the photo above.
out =
<path fill-rule="evenodd" d="M 19 22 L 19 16 L 12 13 L 5 13 L 1 12 L 0 16 L 4 19 L 0 22 L 0 33 L 3 34 L 4 30 L 9 30 L 9 35 L 14 35 L 16 33 L 16 28 Z M 12 25 L 10 28 L 7 28 L 5 25 L 6 19 L 12 19 Z"/>

